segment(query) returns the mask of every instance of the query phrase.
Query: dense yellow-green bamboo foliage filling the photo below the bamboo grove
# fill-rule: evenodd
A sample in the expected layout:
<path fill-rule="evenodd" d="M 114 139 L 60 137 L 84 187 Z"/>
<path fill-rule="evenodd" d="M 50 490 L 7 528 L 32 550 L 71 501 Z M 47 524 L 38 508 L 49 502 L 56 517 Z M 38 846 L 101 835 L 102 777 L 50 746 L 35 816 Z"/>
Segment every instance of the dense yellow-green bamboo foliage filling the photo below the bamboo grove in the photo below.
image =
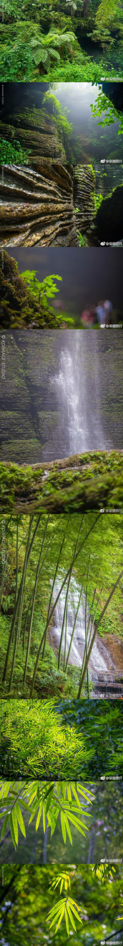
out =
<path fill-rule="evenodd" d="M 1 770 L 12 778 L 122 779 L 123 706 L 119 700 L 74 706 L 55 701 L 2 700 Z"/>

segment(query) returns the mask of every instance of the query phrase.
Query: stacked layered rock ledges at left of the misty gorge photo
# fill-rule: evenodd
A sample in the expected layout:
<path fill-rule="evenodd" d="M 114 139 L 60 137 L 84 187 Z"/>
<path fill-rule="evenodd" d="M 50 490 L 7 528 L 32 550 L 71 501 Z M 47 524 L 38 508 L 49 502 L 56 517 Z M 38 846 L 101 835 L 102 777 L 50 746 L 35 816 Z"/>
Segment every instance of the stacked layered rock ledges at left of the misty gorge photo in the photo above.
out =
<path fill-rule="evenodd" d="M 6 122 L 1 122 L 1 138 L 6 138 L 11 144 L 19 139 L 22 148 L 30 149 L 31 160 L 50 157 L 58 158 L 63 164 L 66 162 L 62 132 L 60 139 L 54 118 L 42 109 L 25 108 L 22 113 L 15 109 L 9 120 L 6 118 Z"/>

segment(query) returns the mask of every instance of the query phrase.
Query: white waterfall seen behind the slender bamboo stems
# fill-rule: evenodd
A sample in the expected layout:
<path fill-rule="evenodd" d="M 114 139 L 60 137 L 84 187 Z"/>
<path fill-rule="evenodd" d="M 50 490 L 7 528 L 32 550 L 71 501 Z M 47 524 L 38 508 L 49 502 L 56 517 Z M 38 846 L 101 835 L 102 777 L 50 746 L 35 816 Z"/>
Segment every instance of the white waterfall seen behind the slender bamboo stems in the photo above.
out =
<path fill-rule="evenodd" d="M 60 590 L 60 579 L 57 579 L 55 586 L 55 597 L 58 591 Z M 76 618 L 77 607 L 79 603 L 79 592 L 80 586 L 77 583 L 74 575 L 71 578 L 69 595 L 68 595 L 68 605 L 67 605 L 67 635 L 66 635 L 66 657 L 68 654 L 69 644 L 72 636 L 73 626 Z M 54 611 L 53 624 L 50 627 L 49 631 L 49 641 L 53 650 L 58 656 L 61 633 L 62 633 L 62 619 L 63 619 L 63 610 L 65 604 L 65 594 L 66 588 L 62 589 L 62 594 L 59 598 L 58 604 Z M 89 619 L 90 611 L 87 604 L 87 619 Z M 62 657 L 64 654 L 64 639 L 65 639 L 65 628 L 63 631 L 62 638 Z M 82 665 L 83 653 L 85 646 L 85 593 L 82 590 L 81 601 L 79 605 L 79 613 L 76 622 L 76 627 L 74 631 L 74 638 L 71 645 L 69 663 L 75 667 L 79 667 L 79 670 Z M 97 692 L 100 695 L 103 695 L 102 691 L 107 692 L 111 687 L 111 690 L 114 690 L 114 681 L 117 681 L 117 689 L 121 687 L 121 692 L 123 692 L 123 677 L 122 677 L 122 664 L 123 664 L 123 641 L 118 640 L 115 635 L 105 635 L 105 638 L 101 638 L 97 634 L 95 640 L 92 654 L 89 661 L 89 671 L 91 679 L 95 686 L 96 694 Z M 92 694 L 93 695 L 93 694 Z"/>

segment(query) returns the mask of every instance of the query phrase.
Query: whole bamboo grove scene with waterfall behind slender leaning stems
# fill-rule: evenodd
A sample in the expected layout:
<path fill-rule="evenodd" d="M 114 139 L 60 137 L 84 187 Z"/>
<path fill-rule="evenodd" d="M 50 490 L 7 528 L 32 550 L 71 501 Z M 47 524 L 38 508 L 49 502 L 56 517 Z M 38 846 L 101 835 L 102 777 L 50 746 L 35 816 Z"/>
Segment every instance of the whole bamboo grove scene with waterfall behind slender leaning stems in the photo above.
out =
<path fill-rule="evenodd" d="M 6 515 L 0 525 L 1 695 L 93 695 L 98 673 L 102 690 L 107 674 L 118 685 L 122 516 Z"/>

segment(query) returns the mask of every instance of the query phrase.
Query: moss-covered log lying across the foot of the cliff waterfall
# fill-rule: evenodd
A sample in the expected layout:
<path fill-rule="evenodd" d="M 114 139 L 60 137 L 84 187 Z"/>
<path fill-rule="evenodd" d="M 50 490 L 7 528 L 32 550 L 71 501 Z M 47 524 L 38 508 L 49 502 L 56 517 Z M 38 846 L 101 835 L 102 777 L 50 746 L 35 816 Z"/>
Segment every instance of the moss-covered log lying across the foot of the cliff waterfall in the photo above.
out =
<path fill-rule="evenodd" d="M 0 464 L 0 511 L 122 512 L 123 450 L 90 451 L 49 464 Z"/>

